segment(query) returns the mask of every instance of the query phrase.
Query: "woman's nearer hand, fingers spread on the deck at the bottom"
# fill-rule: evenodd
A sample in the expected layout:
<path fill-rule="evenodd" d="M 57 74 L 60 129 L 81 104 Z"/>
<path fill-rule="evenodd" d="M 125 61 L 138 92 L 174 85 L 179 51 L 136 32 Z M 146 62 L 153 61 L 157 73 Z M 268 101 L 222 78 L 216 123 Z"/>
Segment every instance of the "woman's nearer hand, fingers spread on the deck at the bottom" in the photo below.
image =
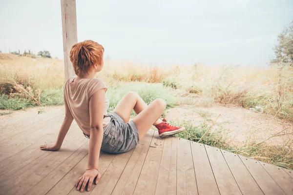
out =
<path fill-rule="evenodd" d="M 97 177 L 96 178 L 96 184 L 97 184 L 101 178 L 101 174 L 96 169 L 86 170 L 84 175 L 78 178 L 75 184 L 75 187 L 77 187 L 77 190 L 80 190 L 81 192 L 83 192 L 88 182 L 87 191 L 89 191 L 91 188 L 91 185 L 94 182 L 95 177 Z"/>

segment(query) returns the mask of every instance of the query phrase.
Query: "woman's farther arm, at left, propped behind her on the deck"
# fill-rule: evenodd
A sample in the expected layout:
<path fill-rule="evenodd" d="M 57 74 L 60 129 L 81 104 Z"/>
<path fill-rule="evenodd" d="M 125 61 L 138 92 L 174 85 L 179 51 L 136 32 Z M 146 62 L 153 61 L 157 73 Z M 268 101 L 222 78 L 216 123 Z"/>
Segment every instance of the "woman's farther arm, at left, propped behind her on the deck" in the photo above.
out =
<path fill-rule="evenodd" d="M 65 117 L 62 123 L 62 126 L 60 128 L 58 137 L 57 137 L 57 141 L 55 144 L 45 144 L 40 146 L 41 150 L 51 150 L 51 151 L 56 151 L 59 150 L 62 146 L 63 140 L 70 128 L 70 125 L 73 121 L 73 117 L 71 115 L 71 112 L 69 110 L 68 104 L 66 102 L 65 97 L 63 97 L 64 99 L 64 105 L 65 105 Z"/>

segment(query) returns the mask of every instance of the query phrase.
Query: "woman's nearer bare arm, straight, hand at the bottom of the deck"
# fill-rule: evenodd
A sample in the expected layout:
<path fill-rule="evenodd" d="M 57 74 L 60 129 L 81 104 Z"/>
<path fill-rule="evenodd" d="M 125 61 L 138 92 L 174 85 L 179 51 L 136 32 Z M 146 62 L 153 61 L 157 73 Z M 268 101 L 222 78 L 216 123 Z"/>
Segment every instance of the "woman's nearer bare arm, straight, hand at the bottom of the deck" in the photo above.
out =
<path fill-rule="evenodd" d="M 96 184 L 101 177 L 98 172 L 98 165 L 101 145 L 104 137 L 104 103 L 105 89 L 101 89 L 95 92 L 89 100 L 90 139 L 88 148 L 87 170 L 76 183 L 77 190 L 80 190 L 81 192 L 84 191 L 87 182 L 87 191 L 89 191 L 95 177 L 97 176 Z"/>

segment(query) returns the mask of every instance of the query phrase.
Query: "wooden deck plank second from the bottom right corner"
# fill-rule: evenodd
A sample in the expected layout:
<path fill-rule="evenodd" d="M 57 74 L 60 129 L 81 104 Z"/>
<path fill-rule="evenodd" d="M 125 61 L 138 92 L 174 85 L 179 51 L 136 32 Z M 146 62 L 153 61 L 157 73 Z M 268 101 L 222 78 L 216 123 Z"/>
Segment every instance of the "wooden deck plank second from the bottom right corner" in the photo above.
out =
<path fill-rule="evenodd" d="M 285 195 L 257 160 L 238 155 L 265 195 Z"/>

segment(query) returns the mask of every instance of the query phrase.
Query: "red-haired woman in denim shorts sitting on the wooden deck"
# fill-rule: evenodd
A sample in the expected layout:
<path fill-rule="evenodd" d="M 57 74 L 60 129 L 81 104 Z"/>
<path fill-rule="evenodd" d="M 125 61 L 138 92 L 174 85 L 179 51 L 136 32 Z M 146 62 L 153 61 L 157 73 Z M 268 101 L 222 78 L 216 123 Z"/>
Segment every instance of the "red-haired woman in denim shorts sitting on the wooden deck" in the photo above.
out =
<path fill-rule="evenodd" d="M 77 76 L 69 78 L 64 87 L 65 118 L 57 141 L 53 145 L 42 145 L 41 150 L 59 150 L 69 127 L 75 119 L 78 126 L 89 138 L 87 169 L 77 183 L 77 190 L 87 191 L 96 178 L 100 150 L 107 153 L 124 153 L 133 149 L 154 125 L 160 137 L 167 137 L 184 130 L 184 127 L 170 125 L 160 119 L 166 108 L 166 102 L 155 99 L 149 105 L 135 92 L 127 93 L 118 103 L 114 112 L 108 116 L 109 100 L 105 82 L 94 78 L 103 68 L 104 47 L 92 40 L 85 40 L 72 46 L 70 60 Z M 137 114 L 129 121 L 131 111 Z"/>

